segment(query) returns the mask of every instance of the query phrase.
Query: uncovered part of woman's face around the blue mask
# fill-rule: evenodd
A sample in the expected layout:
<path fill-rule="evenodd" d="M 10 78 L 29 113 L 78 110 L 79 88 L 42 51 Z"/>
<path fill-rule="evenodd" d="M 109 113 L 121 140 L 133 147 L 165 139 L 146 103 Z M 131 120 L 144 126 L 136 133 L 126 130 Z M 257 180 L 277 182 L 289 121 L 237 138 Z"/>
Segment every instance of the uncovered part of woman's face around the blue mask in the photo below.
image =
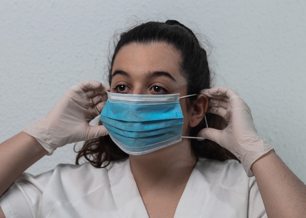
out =
<path fill-rule="evenodd" d="M 113 62 L 110 92 L 123 94 L 187 95 L 187 80 L 179 68 L 180 53 L 165 43 L 132 43 L 122 47 Z M 180 99 L 183 136 L 188 134 L 187 98 Z"/>

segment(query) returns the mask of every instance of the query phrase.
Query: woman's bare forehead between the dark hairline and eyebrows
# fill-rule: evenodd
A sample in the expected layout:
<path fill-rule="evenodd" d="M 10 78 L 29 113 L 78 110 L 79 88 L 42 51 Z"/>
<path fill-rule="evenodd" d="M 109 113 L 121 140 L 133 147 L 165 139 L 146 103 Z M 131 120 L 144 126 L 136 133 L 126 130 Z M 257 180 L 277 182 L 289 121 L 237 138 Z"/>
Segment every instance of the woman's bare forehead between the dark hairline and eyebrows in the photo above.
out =
<path fill-rule="evenodd" d="M 122 47 L 113 62 L 112 72 L 170 71 L 180 73 L 180 52 L 166 43 L 132 43 Z M 124 69 L 121 69 L 124 68 Z"/>

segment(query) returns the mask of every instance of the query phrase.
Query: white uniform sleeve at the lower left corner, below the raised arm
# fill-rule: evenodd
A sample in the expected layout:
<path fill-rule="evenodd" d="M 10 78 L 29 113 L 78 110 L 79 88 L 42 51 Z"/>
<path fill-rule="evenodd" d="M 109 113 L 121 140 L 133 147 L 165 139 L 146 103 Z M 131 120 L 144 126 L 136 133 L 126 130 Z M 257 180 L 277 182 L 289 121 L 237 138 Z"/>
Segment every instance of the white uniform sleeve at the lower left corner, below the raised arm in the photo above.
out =
<path fill-rule="evenodd" d="M 0 198 L 5 218 L 35 218 L 39 216 L 41 197 L 52 171 L 33 176 L 23 173 Z M 14 210 L 13 210 L 14 208 Z"/>

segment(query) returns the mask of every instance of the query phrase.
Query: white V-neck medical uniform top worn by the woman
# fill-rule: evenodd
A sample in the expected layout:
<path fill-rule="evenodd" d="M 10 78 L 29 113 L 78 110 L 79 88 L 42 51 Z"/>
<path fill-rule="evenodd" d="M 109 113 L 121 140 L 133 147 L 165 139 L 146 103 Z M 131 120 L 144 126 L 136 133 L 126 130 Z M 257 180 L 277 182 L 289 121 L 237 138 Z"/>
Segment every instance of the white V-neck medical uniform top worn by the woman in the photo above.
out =
<path fill-rule="evenodd" d="M 23 173 L 0 198 L 6 218 L 148 218 L 129 159 L 97 169 L 59 165 Z M 266 217 L 254 177 L 241 164 L 200 159 L 177 205 L 175 218 Z"/>

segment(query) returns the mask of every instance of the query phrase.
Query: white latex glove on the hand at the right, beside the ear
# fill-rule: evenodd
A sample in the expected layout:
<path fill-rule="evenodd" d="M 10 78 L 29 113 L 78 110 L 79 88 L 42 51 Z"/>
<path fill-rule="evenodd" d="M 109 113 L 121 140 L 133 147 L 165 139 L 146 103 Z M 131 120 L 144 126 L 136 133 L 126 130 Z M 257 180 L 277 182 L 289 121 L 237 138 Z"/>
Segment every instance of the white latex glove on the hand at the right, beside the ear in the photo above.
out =
<path fill-rule="evenodd" d="M 250 108 L 229 88 L 215 87 L 200 93 L 210 98 L 207 112 L 217 114 L 229 123 L 223 130 L 204 128 L 197 135 L 232 152 L 241 161 L 247 175 L 253 176 L 253 163 L 273 148 L 258 136 Z"/>

